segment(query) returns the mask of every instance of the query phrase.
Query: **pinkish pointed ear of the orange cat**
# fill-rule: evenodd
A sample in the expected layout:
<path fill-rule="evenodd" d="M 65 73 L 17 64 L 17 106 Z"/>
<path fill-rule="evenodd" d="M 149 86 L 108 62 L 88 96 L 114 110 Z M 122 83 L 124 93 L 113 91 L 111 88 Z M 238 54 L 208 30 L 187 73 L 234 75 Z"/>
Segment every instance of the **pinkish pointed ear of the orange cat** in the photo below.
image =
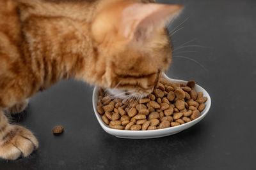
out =
<path fill-rule="evenodd" d="M 182 8 L 181 4 L 129 4 L 122 11 L 118 32 L 128 39 L 147 38 L 150 32 L 177 17 Z"/>

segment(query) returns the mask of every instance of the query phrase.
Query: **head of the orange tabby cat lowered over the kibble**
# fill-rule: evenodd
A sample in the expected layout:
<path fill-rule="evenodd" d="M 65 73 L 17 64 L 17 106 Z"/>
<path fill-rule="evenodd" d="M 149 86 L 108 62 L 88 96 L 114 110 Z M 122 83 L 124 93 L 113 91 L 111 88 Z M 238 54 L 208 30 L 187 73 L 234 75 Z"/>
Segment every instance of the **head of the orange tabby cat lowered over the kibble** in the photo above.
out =
<path fill-rule="evenodd" d="M 102 73 L 97 85 L 121 98 L 150 94 L 172 60 L 166 22 L 181 9 L 180 4 L 122 0 L 102 7 L 92 24 Z"/>

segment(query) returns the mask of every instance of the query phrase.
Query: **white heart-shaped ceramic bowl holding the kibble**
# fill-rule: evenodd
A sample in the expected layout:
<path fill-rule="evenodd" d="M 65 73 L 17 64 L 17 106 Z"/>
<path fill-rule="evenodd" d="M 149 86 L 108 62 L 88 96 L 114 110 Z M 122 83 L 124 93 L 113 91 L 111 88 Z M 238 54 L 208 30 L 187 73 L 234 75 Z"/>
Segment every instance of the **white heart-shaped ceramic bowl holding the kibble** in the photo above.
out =
<path fill-rule="evenodd" d="M 163 74 L 163 77 L 172 82 L 178 82 L 178 83 L 188 82 L 188 81 L 184 81 L 184 80 L 175 80 L 172 78 L 168 78 L 166 76 L 166 74 Z M 95 87 L 93 90 L 93 96 L 92 96 L 93 110 L 94 110 L 95 116 L 97 117 L 97 120 L 99 121 L 99 124 L 104 129 L 104 131 L 106 131 L 107 133 L 109 133 L 113 136 L 116 136 L 118 138 L 129 138 L 129 139 L 160 138 L 163 136 L 169 136 L 169 135 L 177 134 L 178 132 L 184 131 L 185 129 L 188 129 L 189 127 L 200 122 L 200 120 L 202 120 L 205 117 L 205 115 L 207 115 L 207 113 L 210 109 L 210 106 L 211 106 L 211 97 L 199 85 L 196 85 L 194 89 L 196 90 L 196 92 L 203 92 L 203 95 L 208 98 L 207 101 L 205 102 L 205 109 L 204 109 L 204 111 L 202 111 L 200 113 L 200 117 L 196 118 L 195 120 L 192 120 L 191 122 L 188 122 L 188 123 L 182 124 L 182 125 L 178 125 L 175 127 L 168 127 L 165 129 L 156 129 L 156 130 L 151 130 L 151 131 L 125 131 L 125 130 L 111 129 L 110 127 L 108 127 L 108 125 L 106 125 L 102 121 L 102 119 L 96 109 L 97 101 L 99 99 L 98 98 L 99 87 Z"/>

